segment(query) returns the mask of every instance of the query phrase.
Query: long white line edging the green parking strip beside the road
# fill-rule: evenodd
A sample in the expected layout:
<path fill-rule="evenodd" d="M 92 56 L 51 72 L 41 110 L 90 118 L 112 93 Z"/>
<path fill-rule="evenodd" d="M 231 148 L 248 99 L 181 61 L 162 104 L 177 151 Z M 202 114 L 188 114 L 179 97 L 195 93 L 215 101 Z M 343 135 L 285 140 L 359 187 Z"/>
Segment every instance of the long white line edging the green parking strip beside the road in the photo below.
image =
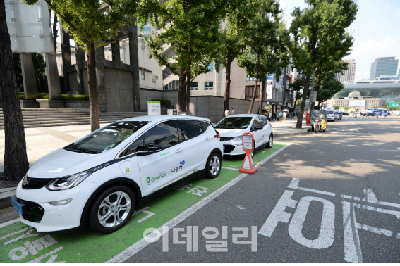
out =
<path fill-rule="evenodd" d="M 284 151 L 284 149 L 289 147 L 289 146 L 291 146 L 291 143 L 289 143 L 286 146 L 280 148 L 279 151 L 277 151 L 276 153 L 271 154 L 270 156 L 268 156 L 267 158 L 262 160 L 260 163 L 257 163 L 256 166 L 262 165 L 263 163 L 267 162 L 271 158 L 274 158 L 274 156 L 277 156 L 277 154 L 279 154 L 281 151 Z M 224 193 L 224 191 L 229 189 L 231 186 L 234 186 L 234 184 L 236 184 L 237 182 L 241 181 L 241 179 L 243 179 L 246 176 L 248 176 L 248 174 L 239 175 L 238 177 L 233 179 L 231 182 L 225 184 L 224 186 L 222 186 L 221 188 L 217 189 L 216 191 L 214 191 L 212 194 L 210 194 L 206 198 L 203 198 L 198 203 L 195 203 L 195 205 L 193 205 L 190 208 L 188 208 L 185 211 L 183 211 L 183 213 L 180 213 L 176 217 L 172 218 L 171 220 L 169 220 L 168 222 L 163 224 L 161 227 L 158 228 L 158 232 L 161 232 L 161 235 L 165 234 L 166 232 L 169 231 L 169 229 L 176 227 L 177 224 L 179 224 L 180 222 L 185 220 L 190 215 L 193 215 L 193 213 L 195 213 L 197 210 L 200 210 L 200 208 L 205 206 L 207 203 L 212 201 L 217 196 L 219 196 L 222 193 Z M 168 229 L 166 229 L 166 227 L 168 227 Z M 157 232 L 157 230 L 155 230 L 155 229 L 154 229 L 154 231 Z M 148 237 L 154 237 L 156 235 L 154 233 L 154 231 L 151 234 L 147 235 L 147 236 Z M 125 260 L 127 260 L 128 258 L 131 258 L 133 255 L 135 255 L 136 253 L 141 251 L 143 248 L 145 248 L 149 244 L 150 244 L 150 242 L 146 241 L 144 238 L 140 239 L 138 242 L 134 243 L 132 246 L 126 248 L 125 251 L 122 251 L 118 255 L 114 256 L 114 258 L 111 258 L 110 260 L 108 260 L 107 263 L 116 263 L 116 262 L 121 263 L 121 262 L 124 262 Z"/>

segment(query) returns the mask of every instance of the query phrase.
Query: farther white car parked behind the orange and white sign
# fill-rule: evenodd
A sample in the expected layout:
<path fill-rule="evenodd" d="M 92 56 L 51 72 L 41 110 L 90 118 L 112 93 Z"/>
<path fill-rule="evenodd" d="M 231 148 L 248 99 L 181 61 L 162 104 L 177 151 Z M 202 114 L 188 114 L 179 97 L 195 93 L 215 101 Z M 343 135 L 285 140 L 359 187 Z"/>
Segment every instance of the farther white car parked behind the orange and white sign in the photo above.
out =
<path fill-rule="evenodd" d="M 225 155 L 245 154 L 242 147 L 245 132 L 253 133 L 255 149 L 262 146 L 272 148 L 274 143 L 272 126 L 265 115 L 231 115 L 219 121 L 215 129 L 221 135 Z"/>

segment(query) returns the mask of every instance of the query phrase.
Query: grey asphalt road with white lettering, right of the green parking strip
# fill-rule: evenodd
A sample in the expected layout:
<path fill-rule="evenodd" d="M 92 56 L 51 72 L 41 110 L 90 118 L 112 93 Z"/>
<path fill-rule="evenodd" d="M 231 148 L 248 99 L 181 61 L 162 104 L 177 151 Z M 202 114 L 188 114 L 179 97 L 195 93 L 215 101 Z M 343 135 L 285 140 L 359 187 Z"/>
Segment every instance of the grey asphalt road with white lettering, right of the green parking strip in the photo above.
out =
<path fill-rule="evenodd" d="M 400 262 L 399 132 L 400 120 L 346 117 L 279 139 L 291 145 L 254 175 L 119 260 Z"/>

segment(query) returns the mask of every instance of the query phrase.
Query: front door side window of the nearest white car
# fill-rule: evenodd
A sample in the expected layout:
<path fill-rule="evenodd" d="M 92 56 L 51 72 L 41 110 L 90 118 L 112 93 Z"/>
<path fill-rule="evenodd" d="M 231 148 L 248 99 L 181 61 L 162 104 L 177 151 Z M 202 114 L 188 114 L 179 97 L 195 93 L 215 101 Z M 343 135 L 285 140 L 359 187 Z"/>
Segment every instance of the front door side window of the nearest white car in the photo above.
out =
<path fill-rule="evenodd" d="M 159 123 L 145 132 L 145 144 L 158 144 L 163 149 L 178 144 L 176 120 Z"/>

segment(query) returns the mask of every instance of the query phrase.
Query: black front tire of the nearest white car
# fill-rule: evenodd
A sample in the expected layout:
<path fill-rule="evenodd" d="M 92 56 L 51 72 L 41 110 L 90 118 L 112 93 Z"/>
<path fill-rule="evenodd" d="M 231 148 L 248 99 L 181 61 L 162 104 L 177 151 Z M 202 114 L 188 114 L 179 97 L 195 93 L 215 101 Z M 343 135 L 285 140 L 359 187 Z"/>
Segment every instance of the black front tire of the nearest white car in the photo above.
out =
<path fill-rule="evenodd" d="M 118 197 L 119 197 L 117 195 L 118 192 L 123 192 L 125 194 L 125 195 L 122 194 L 123 198 L 121 199 L 121 201 L 117 201 Z M 121 205 L 127 205 L 127 206 L 129 205 L 129 203 L 127 201 L 128 198 L 126 198 L 126 196 L 128 196 L 128 198 L 129 198 L 130 208 L 129 208 L 129 210 L 119 210 L 119 208 L 121 208 Z M 102 203 L 104 203 L 104 200 L 106 198 L 108 198 L 109 202 L 111 202 L 111 203 L 114 203 L 114 199 L 116 200 L 115 201 L 116 205 L 112 205 L 112 210 L 111 210 L 111 208 L 101 206 Z M 108 205 L 108 204 L 105 203 L 104 205 Z M 126 186 L 111 186 L 109 189 L 102 191 L 102 193 L 100 193 L 96 197 L 95 201 L 90 206 L 90 210 L 89 210 L 87 218 L 88 218 L 89 225 L 93 230 L 103 233 L 103 234 L 109 234 L 112 232 L 116 232 L 116 230 L 118 230 L 118 229 L 121 229 L 121 227 L 123 227 L 129 221 L 129 219 L 131 219 L 134 210 L 135 210 L 135 194 L 133 194 L 131 189 L 128 189 Z M 101 212 L 104 213 L 106 211 L 107 211 L 107 213 L 109 213 L 109 212 L 113 213 L 113 215 L 109 215 L 109 217 L 107 217 L 104 220 L 104 223 L 110 224 L 109 225 L 110 227 L 104 226 L 103 224 L 101 224 L 99 222 L 98 213 L 101 213 Z M 107 215 L 107 213 L 104 214 L 104 216 Z M 119 222 L 119 224 L 116 224 L 116 223 L 118 223 L 118 221 L 116 220 L 116 215 L 118 215 L 119 218 L 123 217 L 122 222 Z M 113 225 L 111 223 L 116 224 L 116 225 Z"/>

